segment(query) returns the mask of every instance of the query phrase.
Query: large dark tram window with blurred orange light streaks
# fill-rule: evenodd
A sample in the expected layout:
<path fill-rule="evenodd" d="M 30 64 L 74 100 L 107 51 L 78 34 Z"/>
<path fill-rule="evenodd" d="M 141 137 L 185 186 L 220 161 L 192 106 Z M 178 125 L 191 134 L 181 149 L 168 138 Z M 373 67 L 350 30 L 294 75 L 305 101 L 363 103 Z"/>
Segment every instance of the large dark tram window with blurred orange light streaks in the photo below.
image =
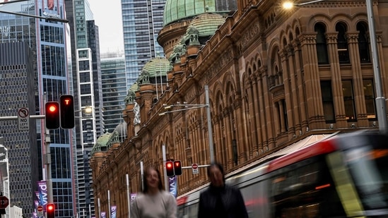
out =
<path fill-rule="evenodd" d="M 271 178 L 276 218 L 341 217 L 343 207 L 322 157 L 285 167 Z"/>

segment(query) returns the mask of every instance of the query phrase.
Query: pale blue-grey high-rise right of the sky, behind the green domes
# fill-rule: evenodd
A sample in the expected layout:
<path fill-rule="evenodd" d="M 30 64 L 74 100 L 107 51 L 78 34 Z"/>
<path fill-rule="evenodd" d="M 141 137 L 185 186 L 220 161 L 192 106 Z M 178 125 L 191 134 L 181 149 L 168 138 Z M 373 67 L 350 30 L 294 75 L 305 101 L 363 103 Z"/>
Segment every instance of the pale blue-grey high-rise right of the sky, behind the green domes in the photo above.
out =
<path fill-rule="evenodd" d="M 122 0 L 127 90 L 150 59 L 163 56 L 156 39 L 163 27 L 165 0 Z"/>

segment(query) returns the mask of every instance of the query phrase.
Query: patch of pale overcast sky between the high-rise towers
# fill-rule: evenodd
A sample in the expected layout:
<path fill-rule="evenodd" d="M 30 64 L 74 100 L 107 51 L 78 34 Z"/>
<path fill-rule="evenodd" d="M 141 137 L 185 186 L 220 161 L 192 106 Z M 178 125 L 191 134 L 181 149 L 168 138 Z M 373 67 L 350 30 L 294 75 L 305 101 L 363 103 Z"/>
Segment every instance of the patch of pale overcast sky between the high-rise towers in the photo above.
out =
<path fill-rule="evenodd" d="M 100 53 L 123 51 L 121 0 L 88 2 L 100 32 Z"/>

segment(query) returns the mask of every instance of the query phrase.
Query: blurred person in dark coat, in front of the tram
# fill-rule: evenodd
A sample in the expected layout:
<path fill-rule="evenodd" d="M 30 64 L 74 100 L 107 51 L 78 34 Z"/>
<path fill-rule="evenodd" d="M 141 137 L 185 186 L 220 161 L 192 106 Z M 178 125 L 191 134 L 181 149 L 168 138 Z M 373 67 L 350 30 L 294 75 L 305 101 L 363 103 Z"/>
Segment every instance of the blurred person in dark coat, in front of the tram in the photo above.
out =
<path fill-rule="evenodd" d="M 210 186 L 199 195 L 198 218 L 247 218 L 247 208 L 239 189 L 225 185 L 223 166 L 208 166 Z"/>

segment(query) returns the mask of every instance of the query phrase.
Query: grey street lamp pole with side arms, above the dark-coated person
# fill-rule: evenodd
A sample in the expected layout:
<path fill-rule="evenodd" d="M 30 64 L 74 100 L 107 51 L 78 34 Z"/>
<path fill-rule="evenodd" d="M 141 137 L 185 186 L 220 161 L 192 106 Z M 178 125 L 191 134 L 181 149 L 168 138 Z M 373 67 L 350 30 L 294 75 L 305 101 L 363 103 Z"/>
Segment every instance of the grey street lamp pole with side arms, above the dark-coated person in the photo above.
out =
<path fill-rule="evenodd" d="M 210 162 L 214 162 L 214 150 L 213 150 L 213 128 L 211 127 L 211 112 L 210 112 L 210 100 L 208 97 L 208 85 L 205 85 L 205 98 L 206 102 L 205 104 L 172 104 L 172 105 L 164 105 L 164 109 L 171 109 L 172 107 L 184 107 L 182 109 L 176 109 L 172 111 L 165 111 L 163 113 L 160 113 L 159 116 L 163 116 L 165 114 L 170 114 L 172 112 L 177 112 L 177 111 L 187 111 L 189 109 L 199 109 L 202 107 L 206 107 L 206 115 L 207 115 L 207 122 L 208 122 L 208 147 L 209 147 L 209 152 L 210 152 Z"/>

